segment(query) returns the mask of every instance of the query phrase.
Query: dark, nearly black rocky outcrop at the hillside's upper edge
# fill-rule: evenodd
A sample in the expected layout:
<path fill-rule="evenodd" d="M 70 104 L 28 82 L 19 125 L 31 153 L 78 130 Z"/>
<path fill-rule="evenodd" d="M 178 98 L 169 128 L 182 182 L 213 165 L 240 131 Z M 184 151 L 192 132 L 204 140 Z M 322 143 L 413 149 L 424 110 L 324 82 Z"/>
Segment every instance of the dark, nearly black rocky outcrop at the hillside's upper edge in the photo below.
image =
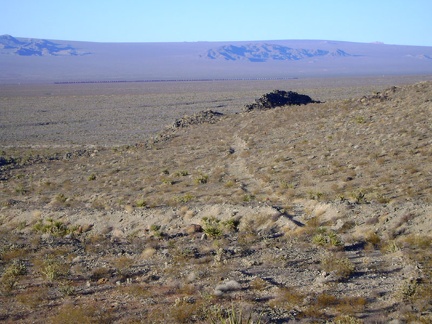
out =
<path fill-rule="evenodd" d="M 273 90 L 272 92 L 262 95 L 259 99 L 256 99 L 255 103 L 246 105 L 243 111 L 267 110 L 281 106 L 307 105 L 317 102 L 318 101 L 312 100 L 308 95 L 293 91 Z"/>

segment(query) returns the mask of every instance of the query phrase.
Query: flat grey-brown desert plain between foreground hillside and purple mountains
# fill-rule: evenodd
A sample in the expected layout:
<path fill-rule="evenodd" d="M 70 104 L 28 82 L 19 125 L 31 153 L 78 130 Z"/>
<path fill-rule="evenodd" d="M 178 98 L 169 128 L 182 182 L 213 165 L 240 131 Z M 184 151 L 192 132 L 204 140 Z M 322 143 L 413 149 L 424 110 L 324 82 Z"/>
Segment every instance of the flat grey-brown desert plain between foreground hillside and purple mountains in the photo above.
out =
<path fill-rule="evenodd" d="M 292 80 L 22 84 L 0 87 L 0 146 L 118 146 L 141 142 L 183 115 L 240 112 L 262 94 L 291 90 L 328 101 L 432 76 Z"/>

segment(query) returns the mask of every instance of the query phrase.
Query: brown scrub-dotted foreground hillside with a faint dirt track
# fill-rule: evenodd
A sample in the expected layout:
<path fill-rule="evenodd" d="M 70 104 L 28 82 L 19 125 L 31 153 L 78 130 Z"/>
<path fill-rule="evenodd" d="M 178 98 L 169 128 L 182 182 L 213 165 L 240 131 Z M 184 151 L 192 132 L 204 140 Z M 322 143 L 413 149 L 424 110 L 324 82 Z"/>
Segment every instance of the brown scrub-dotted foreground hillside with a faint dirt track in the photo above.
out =
<path fill-rule="evenodd" d="M 5 150 L 0 319 L 430 321 L 431 116 L 422 82 L 122 148 Z M 44 256 L 68 270 L 45 276 Z"/>

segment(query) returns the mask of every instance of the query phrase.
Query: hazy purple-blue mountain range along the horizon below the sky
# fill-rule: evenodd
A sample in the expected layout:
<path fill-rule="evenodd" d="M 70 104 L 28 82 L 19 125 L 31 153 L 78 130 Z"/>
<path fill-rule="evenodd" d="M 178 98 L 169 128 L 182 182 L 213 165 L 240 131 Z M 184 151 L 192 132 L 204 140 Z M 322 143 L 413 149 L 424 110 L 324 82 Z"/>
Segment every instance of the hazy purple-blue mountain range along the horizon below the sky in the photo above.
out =
<path fill-rule="evenodd" d="M 432 47 L 326 40 L 95 43 L 0 36 L 0 83 L 432 74 Z"/>

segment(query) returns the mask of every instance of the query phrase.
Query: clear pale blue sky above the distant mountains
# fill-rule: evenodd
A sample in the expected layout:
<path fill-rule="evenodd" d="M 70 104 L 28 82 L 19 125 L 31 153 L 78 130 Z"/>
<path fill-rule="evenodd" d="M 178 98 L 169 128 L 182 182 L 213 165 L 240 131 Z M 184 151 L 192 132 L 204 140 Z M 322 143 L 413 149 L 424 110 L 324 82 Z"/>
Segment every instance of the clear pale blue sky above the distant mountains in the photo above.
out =
<path fill-rule="evenodd" d="M 0 34 L 16 37 L 432 46 L 432 0 L 0 0 L 0 12 Z"/>

